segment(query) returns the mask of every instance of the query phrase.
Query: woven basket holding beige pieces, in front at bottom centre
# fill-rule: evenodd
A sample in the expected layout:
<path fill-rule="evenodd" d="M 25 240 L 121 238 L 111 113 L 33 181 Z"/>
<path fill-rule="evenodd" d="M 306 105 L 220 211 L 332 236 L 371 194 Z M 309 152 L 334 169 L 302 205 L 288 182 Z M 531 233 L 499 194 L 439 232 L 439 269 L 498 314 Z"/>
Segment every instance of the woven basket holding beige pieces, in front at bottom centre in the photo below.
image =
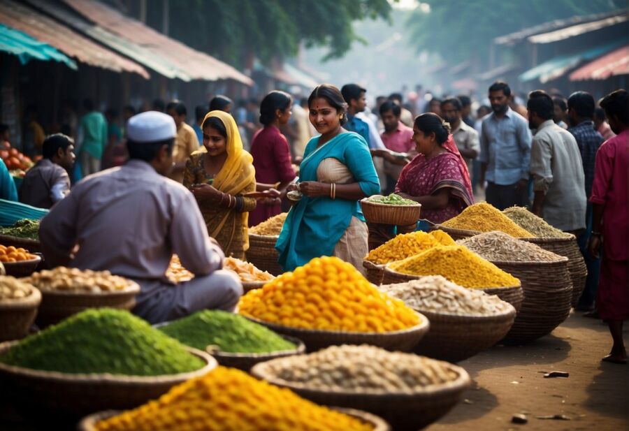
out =
<path fill-rule="evenodd" d="M 317 404 L 369 411 L 384 418 L 396 431 L 415 431 L 437 421 L 461 400 L 463 391 L 470 386 L 470 377 L 463 368 L 447 364 L 447 367 L 458 374 L 454 381 L 418 388 L 413 393 L 318 390 L 303 383 L 289 382 L 273 376 L 270 365 L 277 361 L 282 359 L 260 363 L 252 368 L 251 373 L 254 377 L 289 388 Z"/>

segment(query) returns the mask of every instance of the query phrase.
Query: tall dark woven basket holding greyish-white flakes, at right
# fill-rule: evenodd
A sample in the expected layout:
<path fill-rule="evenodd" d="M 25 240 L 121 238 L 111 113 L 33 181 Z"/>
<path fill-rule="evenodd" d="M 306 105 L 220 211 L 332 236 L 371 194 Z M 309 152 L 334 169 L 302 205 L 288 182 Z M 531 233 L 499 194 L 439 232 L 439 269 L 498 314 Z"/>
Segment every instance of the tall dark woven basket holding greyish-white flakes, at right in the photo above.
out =
<path fill-rule="evenodd" d="M 570 315 L 572 281 L 568 259 L 556 262 L 493 262 L 522 283 L 524 301 L 507 333 L 509 342 L 548 335 Z"/>

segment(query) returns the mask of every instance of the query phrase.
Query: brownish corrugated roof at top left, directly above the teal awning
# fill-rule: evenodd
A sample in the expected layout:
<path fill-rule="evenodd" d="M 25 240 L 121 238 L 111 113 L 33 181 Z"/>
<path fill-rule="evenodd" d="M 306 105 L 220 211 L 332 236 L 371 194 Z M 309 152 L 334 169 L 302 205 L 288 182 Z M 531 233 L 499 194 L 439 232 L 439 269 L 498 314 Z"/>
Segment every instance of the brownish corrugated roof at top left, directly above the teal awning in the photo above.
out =
<path fill-rule="evenodd" d="M 17 1 L 0 0 L 0 22 L 54 46 L 81 63 L 115 72 L 138 73 L 144 78 L 149 78 L 148 72 L 139 64 L 90 41 Z"/>

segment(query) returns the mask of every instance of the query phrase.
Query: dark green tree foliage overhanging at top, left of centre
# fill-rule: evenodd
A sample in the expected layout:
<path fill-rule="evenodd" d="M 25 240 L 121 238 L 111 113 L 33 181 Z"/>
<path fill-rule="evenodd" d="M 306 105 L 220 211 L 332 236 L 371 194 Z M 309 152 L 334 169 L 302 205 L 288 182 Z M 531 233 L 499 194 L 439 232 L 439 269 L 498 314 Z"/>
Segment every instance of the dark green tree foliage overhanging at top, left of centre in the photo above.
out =
<path fill-rule="evenodd" d="M 300 43 L 328 46 L 342 57 L 355 41 L 356 20 L 389 19 L 386 0 L 178 0 L 170 3 L 170 35 L 236 66 L 254 54 L 267 63 L 291 57 Z"/>

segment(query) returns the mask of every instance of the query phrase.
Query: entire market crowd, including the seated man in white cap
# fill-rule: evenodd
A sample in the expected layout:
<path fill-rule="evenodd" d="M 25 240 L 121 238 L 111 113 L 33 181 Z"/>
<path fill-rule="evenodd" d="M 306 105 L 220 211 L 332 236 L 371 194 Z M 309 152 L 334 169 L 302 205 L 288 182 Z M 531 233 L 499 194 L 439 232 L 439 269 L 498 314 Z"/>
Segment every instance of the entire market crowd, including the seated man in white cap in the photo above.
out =
<path fill-rule="evenodd" d="M 248 227 L 282 210 L 291 208 L 275 246 L 284 270 L 338 256 L 362 271 L 368 250 L 446 221 L 484 193 L 499 210 L 526 206 L 577 236 L 588 265 L 579 309 L 609 323 L 605 360 L 626 363 L 627 92 L 596 103 L 586 92 L 537 90 L 523 105 L 498 81 L 481 103 L 391 94 L 373 109 L 366 96 L 354 83 L 319 85 L 308 97 L 274 91 L 260 103 L 219 95 L 195 108 L 191 124 L 177 100 L 139 114 L 127 106 L 124 124 L 86 100 L 85 115 L 62 110 L 66 133 L 50 136 L 30 110 L 24 150 L 43 158 L 19 199 L 51 208 L 41 224 L 48 263 L 136 279 L 136 313 L 158 322 L 232 309 L 242 289 L 220 270 L 222 258 L 245 258 Z M 368 224 L 359 200 L 391 192 L 421 203 L 423 220 Z M 178 289 L 164 279 L 173 252 L 196 275 Z"/>

